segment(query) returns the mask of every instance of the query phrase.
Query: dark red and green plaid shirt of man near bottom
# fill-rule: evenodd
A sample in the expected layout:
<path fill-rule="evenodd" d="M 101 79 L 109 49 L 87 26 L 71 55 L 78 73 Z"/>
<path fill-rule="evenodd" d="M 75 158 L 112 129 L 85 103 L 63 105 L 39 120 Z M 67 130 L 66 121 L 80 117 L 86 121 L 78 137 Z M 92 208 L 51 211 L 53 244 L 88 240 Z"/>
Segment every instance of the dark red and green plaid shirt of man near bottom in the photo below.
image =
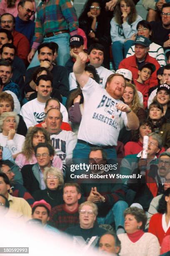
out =
<path fill-rule="evenodd" d="M 65 204 L 53 207 L 48 224 L 62 231 L 79 224 L 78 207 L 74 212 L 67 211 Z"/>

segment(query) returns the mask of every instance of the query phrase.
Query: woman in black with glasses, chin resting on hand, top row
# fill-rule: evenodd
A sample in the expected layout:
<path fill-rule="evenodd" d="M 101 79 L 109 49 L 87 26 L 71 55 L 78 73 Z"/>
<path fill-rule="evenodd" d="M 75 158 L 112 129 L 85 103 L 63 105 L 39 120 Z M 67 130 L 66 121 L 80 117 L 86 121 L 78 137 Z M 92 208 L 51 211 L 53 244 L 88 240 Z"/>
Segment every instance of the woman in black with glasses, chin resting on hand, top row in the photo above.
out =
<path fill-rule="evenodd" d="M 79 27 L 87 36 L 87 48 L 91 44 L 102 44 L 105 48 L 103 64 L 110 68 L 110 19 L 105 13 L 105 7 L 100 0 L 87 0 L 80 14 Z"/>

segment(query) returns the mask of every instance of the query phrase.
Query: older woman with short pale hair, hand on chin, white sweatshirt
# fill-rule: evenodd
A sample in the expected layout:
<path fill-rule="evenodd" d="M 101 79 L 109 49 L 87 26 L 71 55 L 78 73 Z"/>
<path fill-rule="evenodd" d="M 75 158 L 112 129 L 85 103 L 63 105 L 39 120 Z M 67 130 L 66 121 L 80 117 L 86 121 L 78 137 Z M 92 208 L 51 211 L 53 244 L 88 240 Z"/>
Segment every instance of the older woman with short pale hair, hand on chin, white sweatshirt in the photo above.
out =
<path fill-rule="evenodd" d="M 5 112 L 0 115 L 0 145 L 10 149 L 13 158 L 22 151 L 25 137 L 16 133 L 19 117 L 15 112 Z"/>

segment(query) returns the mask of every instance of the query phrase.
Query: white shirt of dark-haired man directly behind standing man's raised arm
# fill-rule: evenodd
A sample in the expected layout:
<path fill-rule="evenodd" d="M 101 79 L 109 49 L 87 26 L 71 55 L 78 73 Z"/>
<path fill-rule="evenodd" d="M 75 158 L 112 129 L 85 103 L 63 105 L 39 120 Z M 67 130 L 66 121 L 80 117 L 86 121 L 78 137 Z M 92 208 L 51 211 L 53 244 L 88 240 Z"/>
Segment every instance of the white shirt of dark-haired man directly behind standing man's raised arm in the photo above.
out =
<path fill-rule="evenodd" d="M 96 70 L 100 77 L 99 84 L 103 88 L 105 88 L 107 77 L 109 77 L 111 74 L 113 74 L 113 72 L 109 69 L 102 67 L 102 66 L 100 66 Z M 70 75 L 69 75 L 69 84 L 70 84 L 70 91 L 77 88 L 76 78 L 75 78 L 75 74 L 73 72 L 70 73 Z"/>

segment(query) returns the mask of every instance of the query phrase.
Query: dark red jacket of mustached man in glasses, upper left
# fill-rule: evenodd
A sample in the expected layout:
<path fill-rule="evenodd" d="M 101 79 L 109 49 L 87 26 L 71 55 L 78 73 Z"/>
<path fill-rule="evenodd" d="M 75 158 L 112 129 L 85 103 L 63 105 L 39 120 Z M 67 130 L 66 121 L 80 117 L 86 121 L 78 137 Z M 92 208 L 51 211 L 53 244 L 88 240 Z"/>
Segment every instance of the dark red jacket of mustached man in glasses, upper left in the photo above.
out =
<path fill-rule="evenodd" d="M 28 54 L 30 52 L 30 43 L 26 36 L 14 30 L 13 32 L 14 45 L 17 48 L 17 56 L 22 59 L 26 66 L 28 66 Z"/>

